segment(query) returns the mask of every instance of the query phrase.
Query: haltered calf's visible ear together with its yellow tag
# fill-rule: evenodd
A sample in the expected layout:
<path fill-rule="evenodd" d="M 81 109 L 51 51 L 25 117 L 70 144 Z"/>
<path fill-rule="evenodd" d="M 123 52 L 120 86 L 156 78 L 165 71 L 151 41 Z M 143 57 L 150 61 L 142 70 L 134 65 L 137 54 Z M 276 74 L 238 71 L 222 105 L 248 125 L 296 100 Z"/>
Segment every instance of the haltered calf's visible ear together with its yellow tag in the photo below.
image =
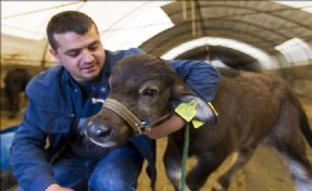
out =
<path fill-rule="evenodd" d="M 217 123 L 217 112 L 214 110 L 212 104 L 204 102 L 194 91 L 187 89 L 183 85 L 175 86 L 171 105 L 173 111 L 183 107 L 182 110 L 184 111 L 182 111 L 182 113 L 188 113 L 186 115 L 190 114 L 192 119 L 200 120 L 209 125 Z M 187 117 L 183 118 L 186 119 Z"/>

